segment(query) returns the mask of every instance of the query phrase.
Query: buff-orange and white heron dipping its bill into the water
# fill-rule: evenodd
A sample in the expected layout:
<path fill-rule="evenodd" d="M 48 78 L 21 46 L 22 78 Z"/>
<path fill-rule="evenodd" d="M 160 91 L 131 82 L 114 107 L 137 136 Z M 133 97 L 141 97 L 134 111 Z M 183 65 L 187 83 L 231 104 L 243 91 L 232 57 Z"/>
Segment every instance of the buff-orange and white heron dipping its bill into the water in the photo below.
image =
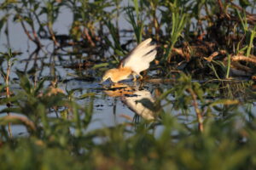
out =
<path fill-rule="evenodd" d="M 119 82 L 128 79 L 130 75 L 133 77 L 133 81 L 137 80 L 137 76 L 141 79 L 141 71 L 145 71 L 149 67 L 149 63 L 154 60 L 156 55 L 156 45 L 151 45 L 151 38 L 146 39 L 133 48 L 131 52 L 120 61 L 119 67 L 110 69 L 105 72 L 102 77 L 102 82 L 105 82 L 110 78 L 112 82 Z"/>

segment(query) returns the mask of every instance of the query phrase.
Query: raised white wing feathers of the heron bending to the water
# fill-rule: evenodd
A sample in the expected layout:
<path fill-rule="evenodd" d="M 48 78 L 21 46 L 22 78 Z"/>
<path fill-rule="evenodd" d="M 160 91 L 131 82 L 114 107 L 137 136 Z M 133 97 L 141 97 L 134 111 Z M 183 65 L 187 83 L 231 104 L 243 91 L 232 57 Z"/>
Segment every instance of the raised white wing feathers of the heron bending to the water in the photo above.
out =
<path fill-rule="evenodd" d="M 156 45 L 150 45 L 151 38 L 146 39 L 132 49 L 131 53 L 122 61 L 123 67 L 131 67 L 131 71 L 139 74 L 149 67 L 149 63 L 154 60 L 156 55 Z"/>

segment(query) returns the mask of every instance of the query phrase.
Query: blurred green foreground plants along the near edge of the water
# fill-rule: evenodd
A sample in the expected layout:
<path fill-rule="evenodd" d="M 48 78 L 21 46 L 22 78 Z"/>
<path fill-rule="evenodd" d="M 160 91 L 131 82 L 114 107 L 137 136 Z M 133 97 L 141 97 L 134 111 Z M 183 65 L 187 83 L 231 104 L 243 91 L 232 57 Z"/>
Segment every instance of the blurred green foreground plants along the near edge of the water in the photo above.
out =
<path fill-rule="evenodd" d="M 256 166 L 255 93 L 250 90 L 249 82 L 200 84 L 181 75 L 173 88 L 164 90 L 152 104 L 157 115 L 155 121 L 128 120 L 115 127 L 90 131 L 86 129 L 94 112 L 93 95 L 87 96 L 88 104 L 79 105 L 72 92 L 54 86 L 44 88 L 40 85 L 43 82 L 34 86 L 20 75 L 20 90 L 8 99 L 0 99 L 1 105 L 11 103 L 0 111 L 1 169 L 253 169 Z M 225 97 L 230 90 L 235 96 Z M 161 102 L 170 96 L 174 100 Z M 165 111 L 164 105 L 172 109 Z M 202 129 L 194 115 L 196 111 L 191 109 L 201 114 Z M 181 122 L 172 115 L 173 111 L 194 118 L 189 123 Z M 4 116 L 6 112 L 12 114 Z M 60 116 L 49 116 L 52 112 Z M 26 127 L 27 134 L 10 137 L 7 128 L 10 122 L 11 126 Z"/>

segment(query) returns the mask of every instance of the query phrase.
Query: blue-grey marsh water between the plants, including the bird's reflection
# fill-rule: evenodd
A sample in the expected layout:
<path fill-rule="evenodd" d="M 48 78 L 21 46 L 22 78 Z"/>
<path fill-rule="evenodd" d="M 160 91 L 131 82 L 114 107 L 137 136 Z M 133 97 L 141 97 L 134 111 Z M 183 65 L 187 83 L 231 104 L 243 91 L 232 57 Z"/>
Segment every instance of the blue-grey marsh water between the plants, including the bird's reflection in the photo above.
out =
<path fill-rule="evenodd" d="M 61 9 L 61 15 L 55 22 L 54 30 L 58 34 L 68 35 L 68 28 L 70 28 L 72 21 L 73 14 L 71 11 L 67 8 L 63 8 Z M 131 25 L 127 23 L 123 16 L 119 19 L 119 26 L 121 26 L 120 29 L 127 27 L 131 28 Z M 7 52 L 8 43 L 4 35 L 4 29 L 0 33 L 0 51 Z M 131 35 L 131 37 L 132 36 L 133 35 Z M 93 101 L 94 114 L 92 122 L 87 129 L 88 131 L 102 127 L 113 127 L 124 122 L 133 122 L 137 119 L 137 115 L 141 116 L 141 119 L 144 120 L 153 120 L 157 117 L 154 115 L 154 112 L 149 110 L 147 107 L 144 107 L 143 103 L 139 103 L 137 100 L 144 99 L 144 104 L 150 105 L 151 103 L 154 103 L 154 100 L 158 97 L 158 89 L 165 92 L 167 89 L 172 88 L 172 83 L 144 82 L 143 85 L 141 85 L 138 82 L 137 84 L 134 84 L 133 82 L 128 81 L 123 84 L 118 84 L 119 87 L 118 85 L 116 85 L 117 87 L 112 87 L 121 87 L 120 89 L 103 90 L 103 88 L 105 88 L 104 86 L 109 88 L 110 83 L 106 83 L 104 86 L 99 83 L 102 77 L 102 71 L 66 68 L 67 65 L 74 65 L 73 61 L 70 60 L 71 58 L 74 58 L 74 56 L 66 55 L 62 57 L 63 60 L 60 60 L 58 56 L 52 55 L 53 42 L 49 40 L 42 41 L 44 42 L 45 48 L 44 51 L 40 51 L 38 54 L 38 58 L 42 59 L 36 60 L 37 56 L 32 56 L 32 59 L 29 59 L 29 55 L 36 46 L 33 42 L 28 40 L 20 26 L 20 23 L 14 23 L 12 20 L 9 20 L 9 40 L 13 51 L 22 52 L 22 54 L 16 57 L 17 61 L 15 61 L 15 65 L 12 68 L 12 73 L 10 75 L 11 80 L 17 78 L 15 75 L 16 70 L 24 71 L 27 67 L 26 71 L 29 71 L 35 67 L 37 68 L 36 76 L 38 79 L 42 77 L 49 77 L 52 79 L 54 77 L 58 77 L 58 88 L 61 88 L 64 91 L 76 90 L 74 94 L 75 97 L 79 97 L 87 93 L 95 94 Z M 87 55 L 84 56 L 86 57 Z M 6 69 L 5 63 L 3 63 L 3 69 Z M 92 82 L 84 81 L 82 79 L 85 76 L 93 77 L 95 80 Z M 3 83 L 3 79 L 0 79 L 0 83 Z M 47 87 L 49 84 L 50 81 L 45 82 L 44 86 Z M 11 90 L 19 90 L 19 86 L 13 82 L 11 84 Z M 170 100 L 175 100 L 175 98 L 170 97 Z M 79 99 L 78 103 L 82 106 L 88 105 L 90 103 L 90 98 Z M 163 100 L 162 105 L 165 105 L 165 103 L 167 103 L 167 101 Z M 0 110 L 4 107 L 5 105 L 0 105 Z M 191 122 L 196 120 L 196 116 L 195 110 L 191 105 L 189 105 L 189 115 L 182 114 L 181 111 L 175 111 L 172 107 L 172 104 L 166 105 L 163 110 L 166 112 L 172 111 L 172 116 L 176 116 L 180 122 L 188 124 L 188 126 L 193 126 L 193 123 Z M 255 108 L 254 105 L 253 108 Z M 55 113 L 52 113 L 50 116 L 55 116 Z M 155 129 L 155 132 L 160 133 L 160 129 L 161 127 L 158 127 Z M 26 128 L 23 126 L 12 126 L 12 130 L 14 135 L 26 135 Z"/>

